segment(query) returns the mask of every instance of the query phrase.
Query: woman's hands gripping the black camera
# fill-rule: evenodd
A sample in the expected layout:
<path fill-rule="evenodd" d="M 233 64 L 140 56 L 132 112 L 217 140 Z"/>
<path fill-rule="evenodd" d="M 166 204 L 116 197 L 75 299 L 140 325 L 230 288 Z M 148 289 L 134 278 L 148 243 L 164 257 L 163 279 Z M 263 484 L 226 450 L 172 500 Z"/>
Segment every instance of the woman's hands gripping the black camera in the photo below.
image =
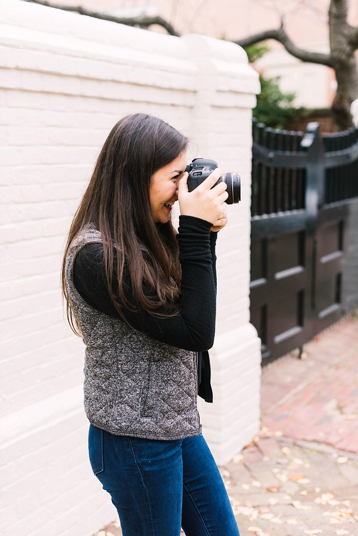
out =
<path fill-rule="evenodd" d="M 216 168 L 192 192 L 188 192 L 188 173 L 184 173 L 178 183 L 178 200 L 181 214 L 210 221 L 213 224 L 212 230 L 219 230 L 225 227 L 227 223 L 225 201 L 228 198 L 228 193 L 226 183 L 219 182 L 213 188 L 220 175 L 220 169 Z"/>

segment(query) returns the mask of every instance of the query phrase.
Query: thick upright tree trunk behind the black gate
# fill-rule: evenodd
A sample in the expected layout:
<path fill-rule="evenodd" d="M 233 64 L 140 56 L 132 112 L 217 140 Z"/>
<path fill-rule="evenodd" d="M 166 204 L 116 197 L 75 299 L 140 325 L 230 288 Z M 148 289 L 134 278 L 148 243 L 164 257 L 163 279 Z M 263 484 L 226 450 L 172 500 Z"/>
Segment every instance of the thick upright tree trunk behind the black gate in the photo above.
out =
<path fill-rule="evenodd" d="M 358 67 L 354 55 L 357 29 L 347 23 L 348 0 L 331 0 L 329 10 L 331 62 L 337 79 L 332 103 L 333 130 L 353 126 L 350 105 L 358 98 Z"/>

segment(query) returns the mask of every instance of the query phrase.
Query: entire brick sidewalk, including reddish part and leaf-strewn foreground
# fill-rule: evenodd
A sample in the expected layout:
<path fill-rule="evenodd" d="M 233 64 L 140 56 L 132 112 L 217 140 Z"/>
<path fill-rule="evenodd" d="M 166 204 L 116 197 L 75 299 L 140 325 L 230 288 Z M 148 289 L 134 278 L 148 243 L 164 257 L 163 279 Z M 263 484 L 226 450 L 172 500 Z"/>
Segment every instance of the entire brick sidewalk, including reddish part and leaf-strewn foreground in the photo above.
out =
<path fill-rule="evenodd" d="M 261 433 L 220 467 L 241 536 L 358 536 L 358 318 L 303 357 L 263 369 Z"/>

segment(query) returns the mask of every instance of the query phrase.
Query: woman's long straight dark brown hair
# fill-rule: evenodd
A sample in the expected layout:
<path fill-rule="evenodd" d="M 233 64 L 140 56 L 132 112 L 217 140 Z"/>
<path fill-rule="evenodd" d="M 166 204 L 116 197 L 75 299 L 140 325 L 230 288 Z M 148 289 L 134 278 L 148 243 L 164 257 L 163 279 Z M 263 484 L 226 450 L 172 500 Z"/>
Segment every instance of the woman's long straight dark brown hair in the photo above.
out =
<path fill-rule="evenodd" d="M 176 232 L 171 221 L 154 223 L 149 192 L 152 175 L 175 160 L 187 145 L 188 138 L 173 126 L 147 114 L 125 116 L 110 131 L 74 215 L 62 263 L 62 292 L 75 333 L 80 334 L 81 329 L 66 288 L 65 262 L 73 239 L 90 222 L 102 236 L 108 291 L 121 317 L 125 320 L 123 306 L 136 310 L 123 292 L 125 263 L 139 309 L 158 315 L 160 306 L 175 307 L 181 280 Z M 112 286 L 114 244 L 117 292 Z M 154 297 L 144 294 L 143 282 L 154 289 Z"/>

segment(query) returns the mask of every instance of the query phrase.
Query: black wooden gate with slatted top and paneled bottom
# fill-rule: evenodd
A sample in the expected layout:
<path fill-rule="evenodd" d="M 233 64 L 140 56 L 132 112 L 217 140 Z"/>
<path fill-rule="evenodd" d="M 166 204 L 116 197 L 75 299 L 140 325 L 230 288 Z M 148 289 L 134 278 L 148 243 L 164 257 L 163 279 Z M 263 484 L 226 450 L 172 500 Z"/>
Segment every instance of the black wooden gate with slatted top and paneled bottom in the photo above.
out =
<path fill-rule="evenodd" d="M 266 364 L 358 307 L 358 128 L 252 133 L 250 312 Z"/>

